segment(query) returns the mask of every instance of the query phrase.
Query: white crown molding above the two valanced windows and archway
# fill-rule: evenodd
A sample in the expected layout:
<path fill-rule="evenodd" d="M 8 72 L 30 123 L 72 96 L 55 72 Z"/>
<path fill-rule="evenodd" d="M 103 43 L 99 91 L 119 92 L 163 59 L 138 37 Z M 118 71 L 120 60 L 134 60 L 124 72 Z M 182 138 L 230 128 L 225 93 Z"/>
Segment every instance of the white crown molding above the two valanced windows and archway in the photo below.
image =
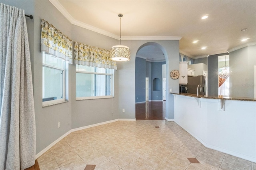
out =
<path fill-rule="evenodd" d="M 99 34 L 102 34 L 104 36 L 108 36 L 108 37 L 111 37 L 111 38 L 114 38 L 116 40 L 120 40 L 120 37 L 115 35 L 115 34 L 112 34 L 110 32 L 106 32 L 104 30 L 101 30 L 99 28 L 96 28 L 94 26 L 90 26 L 88 24 L 85 24 L 83 22 L 80 22 L 78 20 L 75 20 L 69 13 L 68 11 L 60 4 L 60 2 L 58 0 L 49 0 L 53 6 L 55 6 L 55 8 L 57 8 L 58 11 L 60 11 L 60 13 L 71 23 L 71 24 L 74 24 L 76 26 L 79 26 L 79 27 L 82 27 L 82 28 L 85 28 L 87 30 L 91 30 L 93 32 L 97 32 Z M 168 40 L 177 40 L 179 41 L 182 37 L 175 37 L 175 36 L 154 36 L 154 37 L 122 37 L 122 40 L 165 40 L 165 41 L 168 41 Z"/>

